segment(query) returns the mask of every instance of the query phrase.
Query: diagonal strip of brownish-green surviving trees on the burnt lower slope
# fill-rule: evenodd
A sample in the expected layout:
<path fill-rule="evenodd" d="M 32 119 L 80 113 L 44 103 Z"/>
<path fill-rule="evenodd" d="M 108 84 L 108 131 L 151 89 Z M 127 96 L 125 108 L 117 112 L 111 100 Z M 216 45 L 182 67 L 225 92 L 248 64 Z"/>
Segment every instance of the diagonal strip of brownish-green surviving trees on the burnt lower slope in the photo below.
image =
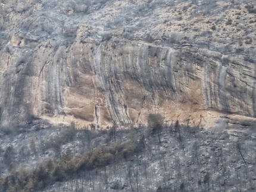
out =
<path fill-rule="evenodd" d="M 73 178 L 74 174 L 89 171 L 102 166 L 107 166 L 113 160 L 126 159 L 142 150 L 141 141 L 126 141 L 124 143 L 113 143 L 110 146 L 98 146 L 82 155 L 74 156 L 70 149 L 60 155 L 60 160 L 47 159 L 40 163 L 36 169 L 27 171 L 26 180 L 21 181 L 18 177 L 23 174 L 24 169 L 15 172 L 15 164 L 10 163 L 11 175 L 0 181 L 1 191 L 37 191 L 55 182 Z M 13 147 L 8 147 L 5 157 L 11 160 Z M 60 153 L 58 151 L 57 153 Z"/>

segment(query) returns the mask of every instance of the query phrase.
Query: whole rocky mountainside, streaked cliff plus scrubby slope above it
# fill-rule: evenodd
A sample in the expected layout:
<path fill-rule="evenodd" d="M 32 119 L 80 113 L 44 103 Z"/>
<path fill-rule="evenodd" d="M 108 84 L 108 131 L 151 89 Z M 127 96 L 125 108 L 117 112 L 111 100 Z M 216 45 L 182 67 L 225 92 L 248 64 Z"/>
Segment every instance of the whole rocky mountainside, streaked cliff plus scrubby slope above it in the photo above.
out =
<path fill-rule="evenodd" d="M 255 14 L 245 3 L 2 1 L 2 126 L 138 125 L 151 113 L 252 125 Z"/>

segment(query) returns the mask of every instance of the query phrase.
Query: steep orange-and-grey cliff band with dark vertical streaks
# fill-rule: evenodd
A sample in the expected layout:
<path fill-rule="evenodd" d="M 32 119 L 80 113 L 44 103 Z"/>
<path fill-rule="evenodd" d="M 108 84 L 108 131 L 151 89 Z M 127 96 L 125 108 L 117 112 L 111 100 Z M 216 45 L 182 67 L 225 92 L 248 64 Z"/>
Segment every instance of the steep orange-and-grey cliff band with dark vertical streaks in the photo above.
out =
<path fill-rule="evenodd" d="M 216 52 L 141 42 L 112 48 L 112 43 L 75 42 L 54 52 L 40 47 L 29 53 L 33 59 L 21 70 L 15 56 L 8 58 L 8 66 L 1 62 L 2 124 L 29 115 L 80 126 L 140 124 L 157 112 L 170 122 L 193 119 L 205 125 L 201 117 L 208 117 L 208 111 L 255 114 L 255 74 L 227 67 L 244 62 L 239 57 L 223 60 Z"/>

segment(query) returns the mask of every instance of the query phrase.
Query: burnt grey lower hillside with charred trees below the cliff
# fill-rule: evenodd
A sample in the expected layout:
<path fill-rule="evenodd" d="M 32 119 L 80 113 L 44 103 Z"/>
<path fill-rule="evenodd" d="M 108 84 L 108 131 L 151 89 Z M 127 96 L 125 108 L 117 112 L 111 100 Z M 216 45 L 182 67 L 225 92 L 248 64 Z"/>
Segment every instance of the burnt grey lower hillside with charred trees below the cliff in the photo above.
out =
<path fill-rule="evenodd" d="M 255 191 L 255 128 L 60 129 L 1 143 L 1 191 Z"/>

